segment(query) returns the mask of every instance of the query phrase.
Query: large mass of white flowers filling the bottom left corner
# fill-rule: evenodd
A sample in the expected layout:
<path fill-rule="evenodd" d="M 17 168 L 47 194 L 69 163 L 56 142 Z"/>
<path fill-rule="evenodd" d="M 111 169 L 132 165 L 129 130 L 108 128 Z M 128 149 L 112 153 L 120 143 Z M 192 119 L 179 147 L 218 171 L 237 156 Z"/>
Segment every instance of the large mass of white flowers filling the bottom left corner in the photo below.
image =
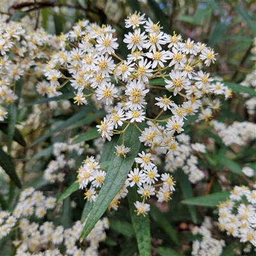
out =
<path fill-rule="evenodd" d="M 45 221 L 42 225 L 40 221 L 29 221 L 33 214 L 40 219 L 48 209 L 54 208 L 56 210 L 56 198 L 45 197 L 41 191 L 35 191 L 34 188 L 25 189 L 20 193 L 19 202 L 12 214 L 8 211 L 0 212 L 1 238 L 9 234 L 12 228 L 20 228 L 20 236 L 13 241 L 17 256 L 97 256 L 99 242 L 106 239 L 104 230 L 109 228 L 108 218 L 99 220 L 89 236 L 80 241 L 81 246 L 77 246 L 84 223 L 76 221 L 71 228 L 64 229 L 61 225 L 55 227 L 51 221 Z M 64 253 L 59 250 L 62 246 Z"/>

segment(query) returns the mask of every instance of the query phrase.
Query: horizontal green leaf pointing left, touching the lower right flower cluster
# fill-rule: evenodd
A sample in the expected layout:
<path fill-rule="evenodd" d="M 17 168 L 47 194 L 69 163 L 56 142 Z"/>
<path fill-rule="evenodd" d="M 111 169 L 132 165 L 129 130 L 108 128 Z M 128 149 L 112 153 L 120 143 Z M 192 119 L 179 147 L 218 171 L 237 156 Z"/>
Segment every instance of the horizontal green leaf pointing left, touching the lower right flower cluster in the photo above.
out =
<path fill-rule="evenodd" d="M 229 195 L 230 191 L 222 191 L 218 193 L 212 193 L 211 195 L 197 196 L 186 200 L 182 200 L 181 203 L 187 205 L 202 205 L 206 207 L 216 207 L 218 204 L 220 204 L 220 202 L 226 201 Z"/>

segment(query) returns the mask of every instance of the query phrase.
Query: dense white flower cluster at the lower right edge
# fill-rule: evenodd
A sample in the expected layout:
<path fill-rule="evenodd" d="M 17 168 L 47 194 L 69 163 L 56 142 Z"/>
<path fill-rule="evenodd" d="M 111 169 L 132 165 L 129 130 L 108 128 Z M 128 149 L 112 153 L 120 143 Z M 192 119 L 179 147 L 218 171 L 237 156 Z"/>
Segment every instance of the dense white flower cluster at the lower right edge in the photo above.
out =
<path fill-rule="evenodd" d="M 235 186 L 218 208 L 220 229 L 238 237 L 241 243 L 256 246 L 256 190 Z"/>

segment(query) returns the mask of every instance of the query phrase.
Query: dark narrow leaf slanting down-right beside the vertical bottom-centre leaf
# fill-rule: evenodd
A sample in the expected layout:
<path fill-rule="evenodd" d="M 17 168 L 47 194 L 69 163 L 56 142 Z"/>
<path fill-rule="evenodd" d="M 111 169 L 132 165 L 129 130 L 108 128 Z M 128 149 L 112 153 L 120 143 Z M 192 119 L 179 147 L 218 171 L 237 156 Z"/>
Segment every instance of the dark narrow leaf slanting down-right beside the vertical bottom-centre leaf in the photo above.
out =
<path fill-rule="evenodd" d="M 177 246 L 180 246 L 176 230 L 172 227 L 166 216 L 164 216 L 164 214 L 154 204 L 150 204 L 150 216 L 161 228 L 163 228 L 164 232 L 166 232 L 170 239 L 172 239 Z M 170 216 L 170 219 L 172 219 L 172 216 Z"/>

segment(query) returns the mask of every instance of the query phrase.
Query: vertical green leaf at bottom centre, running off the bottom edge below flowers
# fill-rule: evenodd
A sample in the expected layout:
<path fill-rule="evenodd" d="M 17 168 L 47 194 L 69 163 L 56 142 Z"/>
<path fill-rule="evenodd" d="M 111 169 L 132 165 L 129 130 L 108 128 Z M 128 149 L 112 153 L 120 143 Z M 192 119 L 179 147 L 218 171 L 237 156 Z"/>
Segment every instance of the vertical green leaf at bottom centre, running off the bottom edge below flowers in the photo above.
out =
<path fill-rule="evenodd" d="M 136 214 L 134 203 L 139 200 L 136 187 L 130 188 L 127 195 L 130 207 L 132 225 L 134 227 L 138 248 L 141 256 L 150 256 L 150 228 L 148 214 L 145 216 Z M 140 198 L 141 199 L 141 198 Z"/>

